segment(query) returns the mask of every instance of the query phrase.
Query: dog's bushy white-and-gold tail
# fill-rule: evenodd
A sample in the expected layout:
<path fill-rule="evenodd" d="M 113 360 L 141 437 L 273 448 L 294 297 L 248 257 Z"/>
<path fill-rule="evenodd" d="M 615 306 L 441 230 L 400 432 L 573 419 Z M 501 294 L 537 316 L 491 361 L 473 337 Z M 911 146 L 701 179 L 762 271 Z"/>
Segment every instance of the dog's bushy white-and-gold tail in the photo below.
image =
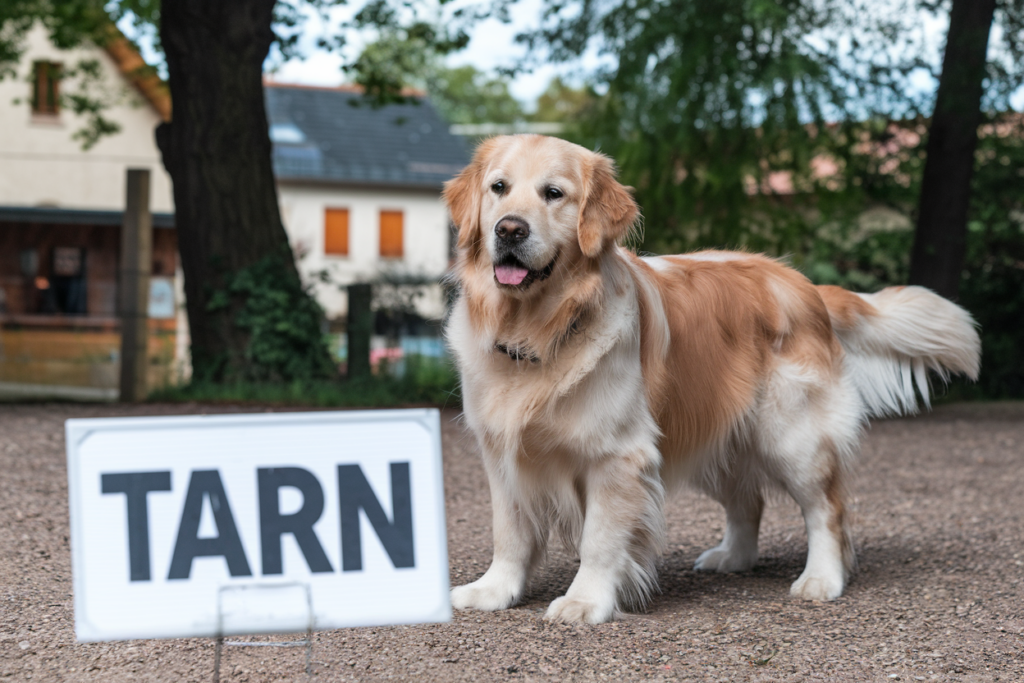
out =
<path fill-rule="evenodd" d="M 870 417 L 918 412 L 914 384 L 931 408 L 928 372 L 978 379 L 981 339 L 971 314 L 924 287 L 854 294 L 819 287 L 833 330 L 846 351 L 846 372 Z"/>

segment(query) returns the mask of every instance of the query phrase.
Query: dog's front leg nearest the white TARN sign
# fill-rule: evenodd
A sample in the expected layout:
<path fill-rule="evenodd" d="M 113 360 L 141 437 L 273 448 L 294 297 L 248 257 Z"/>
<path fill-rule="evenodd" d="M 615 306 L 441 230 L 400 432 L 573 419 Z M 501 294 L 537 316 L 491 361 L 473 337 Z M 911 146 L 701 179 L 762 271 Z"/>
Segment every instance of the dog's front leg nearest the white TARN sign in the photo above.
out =
<path fill-rule="evenodd" d="M 498 471 L 495 460 L 484 458 L 494 511 L 495 555 L 490 567 L 477 581 L 452 589 L 457 609 L 505 609 L 518 602 L 544 555 L 547 528 L 539 528 L 522 507 L 528 503 L 514 490 L 515 474 Z"/>

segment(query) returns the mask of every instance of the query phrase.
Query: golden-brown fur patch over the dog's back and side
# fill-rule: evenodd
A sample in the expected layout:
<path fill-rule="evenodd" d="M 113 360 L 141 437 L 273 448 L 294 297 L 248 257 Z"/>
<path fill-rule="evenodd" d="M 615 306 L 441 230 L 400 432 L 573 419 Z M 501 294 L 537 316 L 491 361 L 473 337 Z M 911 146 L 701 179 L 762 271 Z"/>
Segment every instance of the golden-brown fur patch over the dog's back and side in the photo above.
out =
<path fill-rule="evenodd" d="M 674 340 L 663 356 L 647 341 L 654 335 L 641 338 L 648 400 L 667 457 L 686 457 L 721 438 L 751 404 L 774 357 L 827 373 L 838 373 L 842 358 L 828 311 L 805 278 L 763 256 L 725 262 L 693 256 L 666 257 L 674 267 L 657 272 L 628 255 L 656 285 Z M 644 311 L 652 305 L 643 299 L 645 331 Z M 685 383 L 670 379 L 683 377 Z"/>

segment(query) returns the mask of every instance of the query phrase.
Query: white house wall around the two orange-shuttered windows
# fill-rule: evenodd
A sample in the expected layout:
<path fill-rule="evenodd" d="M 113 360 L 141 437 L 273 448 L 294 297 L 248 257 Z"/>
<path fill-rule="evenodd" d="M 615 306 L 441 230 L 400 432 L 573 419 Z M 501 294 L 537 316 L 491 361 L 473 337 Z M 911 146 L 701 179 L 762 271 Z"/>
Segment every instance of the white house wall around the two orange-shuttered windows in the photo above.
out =
<path fill-rule="evenodd" d="M 328 317 L 344 315 L 347 297 L 339 285 L 367 282 L 381 272 L 440 278 L 449 266 L 449 218 L 439 193 L 433 190 L 361 189 L 312 186 L 282 182 L 278 195 L 299 271 L 306 282 L 327 270 L 331 284 L 316 283 L 314 290 Z M 324 253 L 324 213 L 328 208 L 348 209 L 348 256 Z M 403 257 L 380 257 L 380 212 L 400 210 Z M 440 317 L 439 288 L 423 302 L 420 313 Z"/>

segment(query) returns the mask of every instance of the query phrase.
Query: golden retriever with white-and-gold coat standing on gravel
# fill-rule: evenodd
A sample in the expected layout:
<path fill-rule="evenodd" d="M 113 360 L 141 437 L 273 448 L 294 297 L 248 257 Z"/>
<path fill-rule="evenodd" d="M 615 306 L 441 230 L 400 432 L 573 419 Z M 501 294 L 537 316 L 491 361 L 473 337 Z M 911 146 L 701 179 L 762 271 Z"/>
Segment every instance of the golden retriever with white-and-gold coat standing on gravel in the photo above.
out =
<path fill-rule="evenodd" d="M 444 188 L 460 294 L 446 335 L 494 507 L 494 560 L 462 609 L 523 597 L 554 532 L 580 569 L 546 618 L 599 624 L 656 585 L 667 492 L 725 507 L 696 569 L 758 560 L 766 495 L 803 511 L 791 593 L 834 600 L 854 567 L 844 482 L 865 420 L 928 402 L 928 372 L 976 378 L 970 314 L 920 287 L 853 294 L 776 260 L 639 257 L 612 162 L 540 135 L 490 138 Z"/>

